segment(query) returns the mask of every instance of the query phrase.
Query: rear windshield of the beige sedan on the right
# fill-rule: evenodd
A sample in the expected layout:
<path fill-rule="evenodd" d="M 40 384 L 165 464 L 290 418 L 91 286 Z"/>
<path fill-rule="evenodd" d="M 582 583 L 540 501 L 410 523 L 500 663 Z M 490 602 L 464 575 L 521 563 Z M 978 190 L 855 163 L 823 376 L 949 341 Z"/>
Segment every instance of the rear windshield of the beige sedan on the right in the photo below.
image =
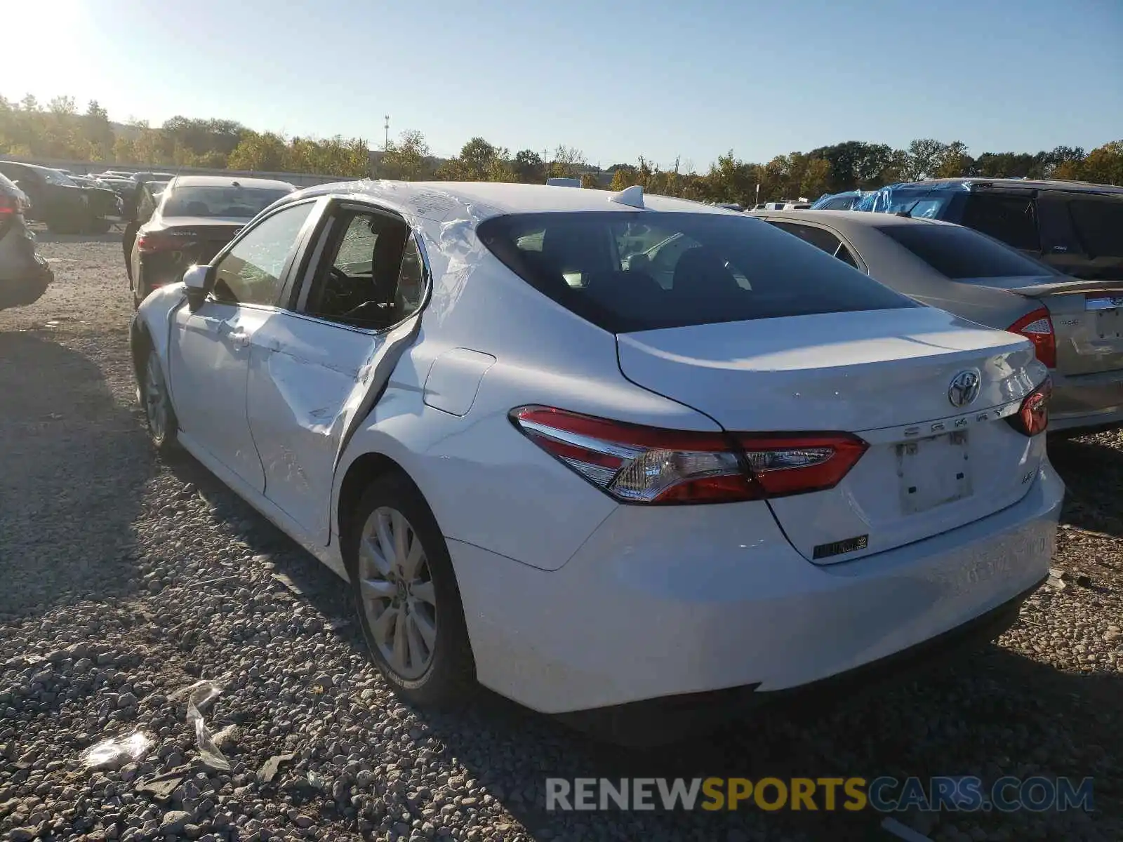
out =
<path fill-rule="evenodd" d="M 1056 269 L 1010 246 L 959 226 L 929 222 L 880 226 L 878 230 L 953 281 L 1057 274 Z"/>

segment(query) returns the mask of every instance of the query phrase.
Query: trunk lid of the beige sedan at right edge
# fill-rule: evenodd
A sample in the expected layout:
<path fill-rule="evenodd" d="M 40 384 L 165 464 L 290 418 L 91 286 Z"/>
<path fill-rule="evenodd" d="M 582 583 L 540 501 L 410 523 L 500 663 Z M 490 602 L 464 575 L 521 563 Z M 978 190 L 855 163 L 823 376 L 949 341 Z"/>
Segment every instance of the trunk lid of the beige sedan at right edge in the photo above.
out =
<path fill-rule="evenodd" d="M 1049 310 L 1061 374 L 1123 369 L 1123 283 L 1056 276 L 977 283 L 1034 299 Z"/>

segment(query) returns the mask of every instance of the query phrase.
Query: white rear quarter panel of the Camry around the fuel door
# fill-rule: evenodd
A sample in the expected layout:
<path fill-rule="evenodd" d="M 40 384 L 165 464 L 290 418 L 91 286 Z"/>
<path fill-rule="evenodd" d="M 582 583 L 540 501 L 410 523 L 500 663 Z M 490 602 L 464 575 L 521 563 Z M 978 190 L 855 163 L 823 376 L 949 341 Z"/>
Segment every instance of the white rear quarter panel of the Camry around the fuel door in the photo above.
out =
<path fill-rule="evenodd" d="M 423 400 L 433 361 L 457 348 L 495 358 L 463 417 Z M 562 567 L 618 504 L 514 428 L 508 413 L 524 404 L 718 429 L 694 410 L 624 379 L 614 336 L 484 253 L 471 265 L 454 262 L 438 278 L 416 344 L 348 445 L 335 482 L 336 533 L 347 467 L 380 452 L 410 475 L 447 538 L 541 569 Z"/>

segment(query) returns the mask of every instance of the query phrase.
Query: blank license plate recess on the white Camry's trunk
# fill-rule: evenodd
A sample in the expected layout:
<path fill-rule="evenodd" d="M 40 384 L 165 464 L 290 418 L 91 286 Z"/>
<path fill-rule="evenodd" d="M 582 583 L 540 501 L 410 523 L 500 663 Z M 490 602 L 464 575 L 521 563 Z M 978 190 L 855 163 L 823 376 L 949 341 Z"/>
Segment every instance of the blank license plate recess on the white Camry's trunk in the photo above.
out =
<path fill-rule="evenodd" d="M 896 446 L 901 507 L 917 514 L 971 494 L 967 430 Z"/>

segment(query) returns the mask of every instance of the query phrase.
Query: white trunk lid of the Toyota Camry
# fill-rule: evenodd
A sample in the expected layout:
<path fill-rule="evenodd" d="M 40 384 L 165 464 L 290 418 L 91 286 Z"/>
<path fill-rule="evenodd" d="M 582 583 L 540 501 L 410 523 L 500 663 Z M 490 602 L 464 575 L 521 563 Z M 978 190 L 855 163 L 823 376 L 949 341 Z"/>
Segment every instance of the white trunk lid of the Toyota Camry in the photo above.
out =
<path fill-rule="evenodd" d="M 1046 376 L 1032 345 L 933 308 L 822 313 L 622 333 L 634 383 L 737 432 L 838 430 L 869 449 L 836 487 L 768 501 L 816 564 L 985 518 L 1029 491 L 1043 437 L 1003 419 Z M 978 378 L 957 405 L 952 381 Z"/>

